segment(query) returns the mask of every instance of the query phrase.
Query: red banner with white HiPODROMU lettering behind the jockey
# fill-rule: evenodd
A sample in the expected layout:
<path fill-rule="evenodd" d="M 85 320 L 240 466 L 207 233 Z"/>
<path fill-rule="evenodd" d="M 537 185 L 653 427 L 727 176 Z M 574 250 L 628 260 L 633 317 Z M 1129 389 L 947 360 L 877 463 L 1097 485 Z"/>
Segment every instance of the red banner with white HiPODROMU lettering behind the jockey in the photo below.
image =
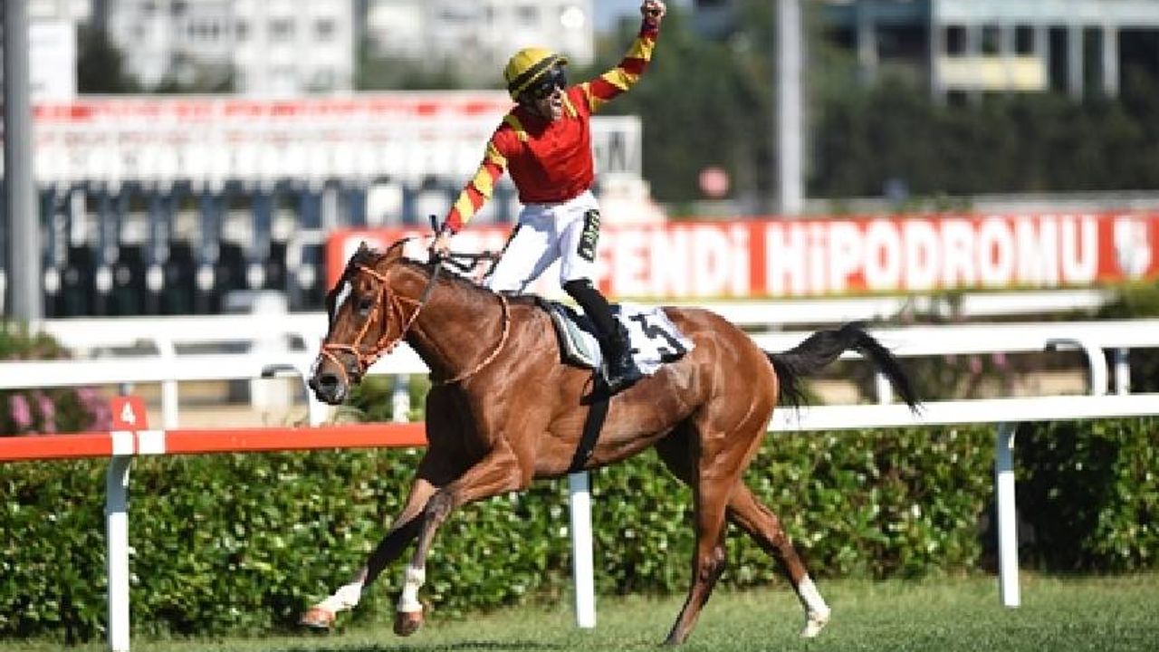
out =
<path fill-rule="evenodd" d="M 455 251 L 500 251 L 509 229 L 472 225 Z M 330 284 L 363 240 L 429 230 L 338 231 Z M 1159 277 L 1159 212 L 930 215 L 605 225 L 600 287 L 614 297 L 803 297 L 950 289 L 1081 288 Z M 534 288 L 555 294 L 553 270 Z"/>

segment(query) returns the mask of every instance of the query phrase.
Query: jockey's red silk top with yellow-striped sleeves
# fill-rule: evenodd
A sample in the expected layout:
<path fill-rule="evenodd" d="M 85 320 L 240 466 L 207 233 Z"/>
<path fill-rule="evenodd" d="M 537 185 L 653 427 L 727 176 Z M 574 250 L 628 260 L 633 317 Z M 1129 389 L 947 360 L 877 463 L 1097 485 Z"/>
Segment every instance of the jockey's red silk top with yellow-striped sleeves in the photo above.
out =
<path fill-rule="evenodd" d="M 522 106 L 503 116 L 444 224 L 453 232 L 462 229 L 491 198 L 508 169 L 524 204 L 561 203 L 591 188 L 596 179 L 591 115 L 640 80 L 658 36 L 658 26 L 644 22 L 619 65 L 567 89 L 559 119 L 545 119 Z"/>

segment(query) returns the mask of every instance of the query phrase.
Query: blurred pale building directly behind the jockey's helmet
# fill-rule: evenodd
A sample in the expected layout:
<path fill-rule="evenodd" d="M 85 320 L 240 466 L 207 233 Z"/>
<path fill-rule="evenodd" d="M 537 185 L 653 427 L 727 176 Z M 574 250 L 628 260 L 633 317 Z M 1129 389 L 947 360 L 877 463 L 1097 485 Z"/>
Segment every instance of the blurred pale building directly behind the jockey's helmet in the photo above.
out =
<path fill-rule="evenodd" d="M 512 52 L 542 45 L 581 65 L 595 57 L 592 0 L 366 0 L 370 53 L 450 64 L 498 78 Z"/>

